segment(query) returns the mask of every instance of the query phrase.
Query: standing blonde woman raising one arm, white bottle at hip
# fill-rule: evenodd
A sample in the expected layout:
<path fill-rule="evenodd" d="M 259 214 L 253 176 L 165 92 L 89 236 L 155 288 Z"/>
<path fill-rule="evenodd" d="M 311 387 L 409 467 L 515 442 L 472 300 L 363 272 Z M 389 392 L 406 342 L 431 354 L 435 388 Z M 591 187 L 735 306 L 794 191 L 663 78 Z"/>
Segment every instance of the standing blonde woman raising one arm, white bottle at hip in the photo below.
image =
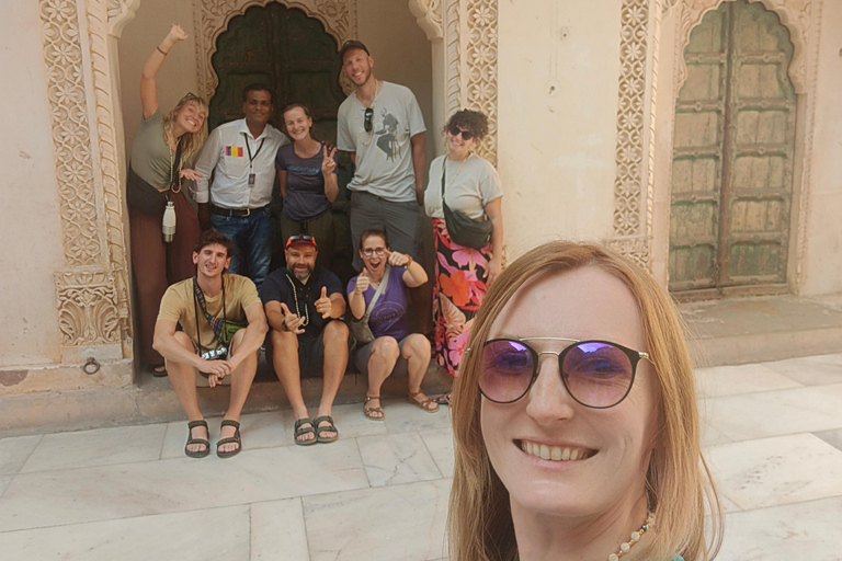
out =
<path fill-rule="evenodd" d="M 132 145 L 126 198 L 132 238 L 132 268 L 139 312 L 140 359 L 166 376 L 163 357 L 152 348 L 152 333 L 161 297 L 171 284 L 192 277 L 193 247 L 198 240 L 196 211 L 182 190 L 182 180 L 196 180 L 187 169 L 207 138 L 207 103 L 192 93 L 167 114 L 158 106 L 156 75 L 170 49 L 187 38 L 178 25 L 155 47 L 140 75 L 144 119 Z M 171 207 L 171 208 L 168 208 Z M 162 237 L 174 211 L 175 232 Z"/>

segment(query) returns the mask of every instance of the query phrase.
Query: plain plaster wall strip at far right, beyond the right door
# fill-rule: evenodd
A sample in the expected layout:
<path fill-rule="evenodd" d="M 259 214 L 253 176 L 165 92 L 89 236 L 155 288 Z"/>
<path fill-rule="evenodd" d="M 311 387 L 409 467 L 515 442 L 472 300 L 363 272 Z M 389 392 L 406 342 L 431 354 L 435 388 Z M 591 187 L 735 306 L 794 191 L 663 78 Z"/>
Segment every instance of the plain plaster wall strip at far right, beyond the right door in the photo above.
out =
<path fill-rule="evenodd" d="M 842 2 L 824 1 L 821 20 L 812 187 L 798 290 L 805 296 L 842 291 Z"/>

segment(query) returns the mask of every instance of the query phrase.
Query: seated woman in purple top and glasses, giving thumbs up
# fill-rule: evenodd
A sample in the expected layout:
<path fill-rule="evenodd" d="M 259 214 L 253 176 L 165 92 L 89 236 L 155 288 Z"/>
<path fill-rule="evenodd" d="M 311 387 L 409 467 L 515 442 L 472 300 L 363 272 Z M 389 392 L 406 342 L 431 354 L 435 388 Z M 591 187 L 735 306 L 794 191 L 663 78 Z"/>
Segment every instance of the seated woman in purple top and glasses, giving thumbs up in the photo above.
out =
<path fill-rule="evenodd" d="M 408 373 L 407 400 L 434 413 L 439 405 L 421 391 L 421 380 L 430 364 L 430 341 L 420 333 L 410 334 L 407 321 L 407 288 L 426 283 L 426 273 L 410 255 L 389 251 L 386 232 L 382 230 L 365 230 L 360 236 L 360 256 L 365 268 L 348 283 L 348 301 L 354 319 L 365 316 L 377 287 L 389 275 L 368 316 L 375 339 L 357 348 L 353 357 L 356 368 L 368 375 L 363 413 L 372 421 L 383 421 L 380 386 L 398 369 Z"/>

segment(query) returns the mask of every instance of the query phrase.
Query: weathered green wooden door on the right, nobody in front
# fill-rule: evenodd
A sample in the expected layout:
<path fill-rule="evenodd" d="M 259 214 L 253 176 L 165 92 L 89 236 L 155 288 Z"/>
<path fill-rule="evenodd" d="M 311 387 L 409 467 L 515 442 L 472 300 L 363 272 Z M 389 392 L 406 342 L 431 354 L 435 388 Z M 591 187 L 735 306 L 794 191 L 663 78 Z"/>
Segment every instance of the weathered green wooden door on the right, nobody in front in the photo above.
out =
<path fill-rule="evenodd" d="M 759 2 L 724 2 L 691 33 L 675 106 L 670 290 L 786 289 L 792 57 L 786 27 Z"/>

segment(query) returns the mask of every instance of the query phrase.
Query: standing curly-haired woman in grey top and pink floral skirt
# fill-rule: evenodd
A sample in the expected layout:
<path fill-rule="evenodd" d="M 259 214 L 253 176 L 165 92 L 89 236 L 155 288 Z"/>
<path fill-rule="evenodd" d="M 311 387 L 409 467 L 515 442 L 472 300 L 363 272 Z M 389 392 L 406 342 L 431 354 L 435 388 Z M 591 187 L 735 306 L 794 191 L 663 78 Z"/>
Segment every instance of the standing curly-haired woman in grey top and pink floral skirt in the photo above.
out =
<path fill-rule="evenodd" d="M 436 253 L 433 284 L 435 362 L 452 376 L 458 370 L 474 314 L 502 268 L 503 193 L 500 176 L 490 162 L 471 153 L 487 134 L 488 117 L 482 113 L 469 110 L 454 113 L 444 127 L 447 156 L 439 157 L 430 164 L 430 183 L 424 192 L 426 215 L 433 219 Z M 450 209 L 470 219 L 490 220 L 491 234 L 485 247 L 474 249 L 454 241 L 445 222 L 443 201 Z M 447 404 L 450 393 L 437 401 Z"/>

